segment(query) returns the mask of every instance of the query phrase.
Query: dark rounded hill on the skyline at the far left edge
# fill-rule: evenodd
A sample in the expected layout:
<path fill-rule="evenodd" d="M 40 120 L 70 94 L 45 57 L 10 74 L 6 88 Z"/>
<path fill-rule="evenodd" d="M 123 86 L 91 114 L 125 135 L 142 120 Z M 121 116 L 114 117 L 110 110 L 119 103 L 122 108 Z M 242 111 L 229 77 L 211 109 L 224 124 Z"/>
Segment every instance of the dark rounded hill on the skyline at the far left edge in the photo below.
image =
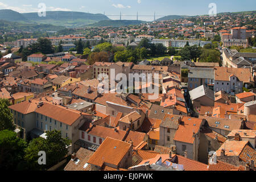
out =
<path fill-rule="evenodd" d="M 26 21 L 26 18 L 13 10 L 0 10 L 0 20 L 6 20 L 10 22 Z"/>

